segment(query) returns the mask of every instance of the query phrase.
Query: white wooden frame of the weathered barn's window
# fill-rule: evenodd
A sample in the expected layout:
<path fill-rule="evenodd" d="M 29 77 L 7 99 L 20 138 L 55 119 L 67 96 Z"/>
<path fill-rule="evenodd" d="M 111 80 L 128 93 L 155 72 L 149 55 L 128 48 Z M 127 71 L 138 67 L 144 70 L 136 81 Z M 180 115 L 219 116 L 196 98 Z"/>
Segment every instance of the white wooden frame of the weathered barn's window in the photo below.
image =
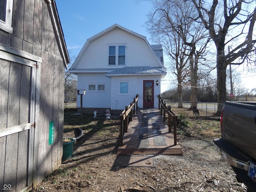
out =
<path fill-rule="evenodd" d="M 0 20 L 0 29 L 12 34 L 13 0 L 6 0 L 5 21 Z"/>

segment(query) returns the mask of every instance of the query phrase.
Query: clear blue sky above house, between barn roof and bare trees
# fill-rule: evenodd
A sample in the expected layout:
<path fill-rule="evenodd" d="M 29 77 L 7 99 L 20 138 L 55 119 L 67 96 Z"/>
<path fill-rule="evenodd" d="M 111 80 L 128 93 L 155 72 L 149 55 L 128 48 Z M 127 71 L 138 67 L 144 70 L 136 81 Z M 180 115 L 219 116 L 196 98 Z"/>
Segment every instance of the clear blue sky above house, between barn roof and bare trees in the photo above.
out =
<path fill-rule="evenodd" d="M 143 26 L 150 11 L 149 1 L 55 0 L 68 50 L 78 55 L 86 40 L 113 24 L 150 36 Z M 151 42 L 150 42 L 151 44 Z"/>

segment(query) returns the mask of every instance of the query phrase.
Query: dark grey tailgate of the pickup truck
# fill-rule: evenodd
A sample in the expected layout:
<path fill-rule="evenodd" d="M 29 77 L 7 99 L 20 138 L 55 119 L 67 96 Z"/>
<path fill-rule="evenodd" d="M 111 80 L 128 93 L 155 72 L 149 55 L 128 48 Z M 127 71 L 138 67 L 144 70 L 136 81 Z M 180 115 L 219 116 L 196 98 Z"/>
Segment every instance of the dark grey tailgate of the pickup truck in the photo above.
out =
<path fill-rule="evenodd" d="M 256 105 L 226 102 L 223 110 L 222 138 L 256 160 Z"/>

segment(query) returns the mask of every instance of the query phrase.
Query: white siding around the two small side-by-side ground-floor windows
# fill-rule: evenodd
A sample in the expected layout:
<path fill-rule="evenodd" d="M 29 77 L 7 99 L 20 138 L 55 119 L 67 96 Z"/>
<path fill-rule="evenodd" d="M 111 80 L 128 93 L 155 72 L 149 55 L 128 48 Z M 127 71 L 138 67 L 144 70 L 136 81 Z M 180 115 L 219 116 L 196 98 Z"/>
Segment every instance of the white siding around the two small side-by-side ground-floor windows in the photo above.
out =
<path fill-rule="evenodd" d="M 96 90 L 89 90 L 89 84 L 95 84 Z M 104 84 L 105 90 L 97 90 L 98 84 Z M 86 95 L 83 96 L 83 108 L 110 108 L 111 79 L 103 73 L 78 74 L 77 89 L 86 90 Z M 77 106 L 80 107 L 80 95 L 77 97 Z"/>

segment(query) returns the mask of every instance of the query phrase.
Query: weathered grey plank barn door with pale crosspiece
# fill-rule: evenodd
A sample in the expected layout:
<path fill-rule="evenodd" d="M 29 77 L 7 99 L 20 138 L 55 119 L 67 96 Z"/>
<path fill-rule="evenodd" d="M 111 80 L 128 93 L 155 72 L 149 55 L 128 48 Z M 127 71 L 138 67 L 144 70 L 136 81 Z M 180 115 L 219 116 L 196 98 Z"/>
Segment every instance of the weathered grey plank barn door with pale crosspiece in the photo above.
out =
<path fill-rule="evenodd" d="M 0 69 L 0 188 L 20 192 L 33 182 L 38 68 L 36 62 L 8 56 L 0 59 Z"/>

